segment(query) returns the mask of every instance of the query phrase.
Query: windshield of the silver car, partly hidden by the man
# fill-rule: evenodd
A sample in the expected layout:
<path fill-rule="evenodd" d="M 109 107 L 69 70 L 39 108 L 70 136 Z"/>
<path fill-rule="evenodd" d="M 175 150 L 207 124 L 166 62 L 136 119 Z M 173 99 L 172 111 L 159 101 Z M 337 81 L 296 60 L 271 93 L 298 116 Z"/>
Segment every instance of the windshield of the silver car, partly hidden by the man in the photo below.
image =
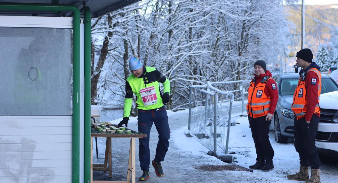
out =
<path fill-rule="evenodd" d="M 281 95 L 293 95 L 298 84 L 298 78 L 285 78 L 282 80 L 280 93 Z M 337 85 L 330 78 L 322 78 L 321 80 L 321 92 L 328 93 L 337 91 Z"/>

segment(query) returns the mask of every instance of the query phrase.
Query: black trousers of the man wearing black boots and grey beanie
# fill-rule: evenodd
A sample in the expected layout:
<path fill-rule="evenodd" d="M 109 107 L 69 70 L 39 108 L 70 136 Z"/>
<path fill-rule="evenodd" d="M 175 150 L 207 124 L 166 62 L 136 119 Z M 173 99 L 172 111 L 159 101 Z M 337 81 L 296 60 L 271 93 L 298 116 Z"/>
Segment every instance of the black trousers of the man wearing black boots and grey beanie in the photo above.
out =
<path fill-rule="evenodd" d="M 252 138 L 255 142 L 257 158 L 273 158 L 274 152 L 269 140 L 269 127 L 271 121 L 265 121 L 266 116 L 252 118 L 249 124 Z"/>

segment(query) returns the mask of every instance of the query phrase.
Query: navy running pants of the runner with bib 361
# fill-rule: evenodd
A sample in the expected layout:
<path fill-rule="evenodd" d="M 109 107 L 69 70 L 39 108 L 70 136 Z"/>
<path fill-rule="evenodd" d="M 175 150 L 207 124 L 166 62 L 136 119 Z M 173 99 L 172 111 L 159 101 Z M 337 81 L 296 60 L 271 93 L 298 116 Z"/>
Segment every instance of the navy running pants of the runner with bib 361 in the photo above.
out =
<path fill-rule="evenodd" d="M 157 132 L 159 133 L 159 141 L 156 147 L 154 160 L 161 162 L 168 151 L 170 130 L 168 124 L 168 116 L 166 108 L 163 106 L 159 109 L 140 110 L 138 111 L 139 132 L 147 134 L 147 137 L 140 138 L 139 158 L 142 170 L 149 170 L 150 151 L 149 151 L 149 135 L 152 123 L 154 122 Z"/>

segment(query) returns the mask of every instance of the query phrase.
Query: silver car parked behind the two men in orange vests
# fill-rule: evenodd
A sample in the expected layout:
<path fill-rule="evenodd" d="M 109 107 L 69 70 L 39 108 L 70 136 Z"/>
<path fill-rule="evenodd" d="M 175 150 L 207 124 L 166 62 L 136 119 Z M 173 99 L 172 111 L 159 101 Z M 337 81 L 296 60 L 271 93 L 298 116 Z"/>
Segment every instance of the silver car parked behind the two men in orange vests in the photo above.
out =
<path fill-rule="evenodd" d="M 270 129 L 275 132 L 275 141 L 278 143 L 288 142 L 288 138 L 293 138 L 294 122 L 291 110 L 293 94 L 296 90 L 299 75 L 298 73 L 277 74 L 272 77 L 277 83 L 278 102 L 273 115 Z M 338 90 L 338 84 L 327 75 L 321 75 L 321 94 Z"/>

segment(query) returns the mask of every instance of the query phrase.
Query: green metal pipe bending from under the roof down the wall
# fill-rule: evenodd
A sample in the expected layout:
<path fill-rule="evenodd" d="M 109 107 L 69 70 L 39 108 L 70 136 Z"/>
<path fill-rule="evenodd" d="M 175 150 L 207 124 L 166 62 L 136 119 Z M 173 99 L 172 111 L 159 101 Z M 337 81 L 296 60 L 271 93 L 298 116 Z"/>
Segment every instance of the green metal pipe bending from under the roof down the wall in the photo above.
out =
<path fill-rule="evenodd" d="M 32 10 L 38 12 L 73 12 L 73 137 L 72 182 L 80 182 L 80 10 L 73 5 L 0 3 L 3 10 Z"/>

